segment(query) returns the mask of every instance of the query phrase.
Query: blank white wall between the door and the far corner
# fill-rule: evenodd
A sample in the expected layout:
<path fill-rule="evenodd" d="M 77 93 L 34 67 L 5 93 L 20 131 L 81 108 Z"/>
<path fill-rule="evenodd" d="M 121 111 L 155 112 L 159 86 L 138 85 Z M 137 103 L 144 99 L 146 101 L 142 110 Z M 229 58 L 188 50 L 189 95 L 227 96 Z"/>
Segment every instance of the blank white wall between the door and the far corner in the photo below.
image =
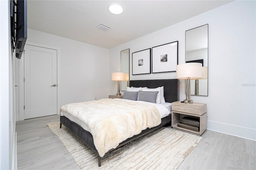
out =
<path fill-rule="evenodd" d="M 108 98 L 109 49 L 31 29 L 27 42 L 58 49 L 58 110 L 67 103 Z"/>

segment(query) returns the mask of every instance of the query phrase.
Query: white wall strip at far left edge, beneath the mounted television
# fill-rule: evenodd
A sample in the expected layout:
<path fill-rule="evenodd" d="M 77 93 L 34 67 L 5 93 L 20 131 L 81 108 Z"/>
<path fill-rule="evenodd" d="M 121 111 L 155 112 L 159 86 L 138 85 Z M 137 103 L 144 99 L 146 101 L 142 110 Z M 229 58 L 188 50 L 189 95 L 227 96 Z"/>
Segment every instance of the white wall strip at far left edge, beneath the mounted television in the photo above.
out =
<path fill-rule="evenodd" d="M 0 169 L 16 168 L 10 1 L 0 1 Z"/>

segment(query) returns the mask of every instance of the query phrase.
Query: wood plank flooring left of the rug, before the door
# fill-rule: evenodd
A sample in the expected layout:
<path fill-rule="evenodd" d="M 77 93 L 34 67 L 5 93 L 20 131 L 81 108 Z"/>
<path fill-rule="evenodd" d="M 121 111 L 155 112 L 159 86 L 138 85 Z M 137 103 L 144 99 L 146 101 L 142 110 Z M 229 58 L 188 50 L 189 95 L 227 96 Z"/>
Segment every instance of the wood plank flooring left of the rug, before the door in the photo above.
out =
<path fill-rule="evenodd" d="M 59 120 L 53 115 L 16 122 L 18 170 L 80 170 L 46 125 Z"/>

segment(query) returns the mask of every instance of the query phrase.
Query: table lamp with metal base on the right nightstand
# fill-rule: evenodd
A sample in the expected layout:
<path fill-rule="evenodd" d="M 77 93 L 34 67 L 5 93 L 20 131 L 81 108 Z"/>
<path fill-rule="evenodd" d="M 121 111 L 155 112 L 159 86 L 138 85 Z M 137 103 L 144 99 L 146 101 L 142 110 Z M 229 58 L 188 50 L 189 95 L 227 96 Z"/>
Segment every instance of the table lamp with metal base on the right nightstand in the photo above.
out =
<path fill-rule="evenodd" d="M 176 66 L 176 78 L 186 79 L 186 99 L 184 103 L 192 104 L 190 99 L 190 79 L 202 78 L 202 63 L 184 63 Z"/>

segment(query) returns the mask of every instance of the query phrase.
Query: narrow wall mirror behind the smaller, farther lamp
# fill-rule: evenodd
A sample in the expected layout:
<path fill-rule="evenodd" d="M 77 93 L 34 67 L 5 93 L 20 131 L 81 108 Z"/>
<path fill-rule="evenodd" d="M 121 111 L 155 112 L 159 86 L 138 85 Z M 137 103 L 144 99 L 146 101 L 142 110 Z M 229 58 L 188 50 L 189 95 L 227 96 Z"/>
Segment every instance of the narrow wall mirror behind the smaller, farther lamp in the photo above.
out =
<path fill-rule="evenodd" d="M 130 49 L 125 49 L 121 51 L 121 72 L 125 73 L 126 81 L 121 81 L 121 91 L 126 91 L 127 87 L 129 86 L 130 81 Z"/>

